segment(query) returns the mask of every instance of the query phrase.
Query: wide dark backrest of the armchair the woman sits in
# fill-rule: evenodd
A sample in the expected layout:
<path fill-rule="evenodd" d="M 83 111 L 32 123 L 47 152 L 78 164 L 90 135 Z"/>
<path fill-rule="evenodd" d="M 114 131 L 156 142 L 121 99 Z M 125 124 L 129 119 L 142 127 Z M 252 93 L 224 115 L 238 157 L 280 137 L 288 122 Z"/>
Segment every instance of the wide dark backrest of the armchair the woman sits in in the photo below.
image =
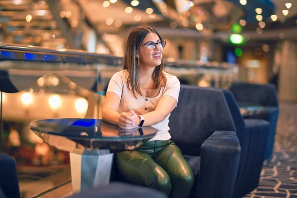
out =
<path fill-rule="evenodd" d="M 214 131 L 235 131 L 222 91 L 190 85 L 181 85 L 169 127 L 172 140 L 183 154 L 198 156 L 202 143 Z"/>

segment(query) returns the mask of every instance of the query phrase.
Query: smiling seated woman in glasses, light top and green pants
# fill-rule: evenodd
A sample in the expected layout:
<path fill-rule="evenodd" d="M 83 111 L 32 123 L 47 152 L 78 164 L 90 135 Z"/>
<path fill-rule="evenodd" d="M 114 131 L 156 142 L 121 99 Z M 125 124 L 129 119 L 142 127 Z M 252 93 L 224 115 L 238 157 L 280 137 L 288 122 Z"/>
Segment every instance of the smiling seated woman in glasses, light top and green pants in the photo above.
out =
<path fill-rule="evenodd" d="M 151 27 L 140 26 L 131 31 L 123 70 L 115 73 L 108 85 L 102 119 L 121 128 L 158 129 L 141 147 L 118 152 L 118 169 L 133 184 L 160 190 L 170 198 L 188 198 L 193 173 L 168 132 L 180 82 L 163 71 L 165 45 Z"/>

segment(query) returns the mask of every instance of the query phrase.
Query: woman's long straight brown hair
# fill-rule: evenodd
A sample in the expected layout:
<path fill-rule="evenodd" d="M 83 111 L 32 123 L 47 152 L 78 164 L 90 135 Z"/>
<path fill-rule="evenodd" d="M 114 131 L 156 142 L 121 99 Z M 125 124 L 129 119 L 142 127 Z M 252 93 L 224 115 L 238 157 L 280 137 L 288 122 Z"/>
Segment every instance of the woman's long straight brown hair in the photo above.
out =
<path fill-rule="evenodd" d="M 146 38 L 148 33 L 155 33 L 161 39 L 159 33 L 149 26 L 139 26 L 134 28 L 127 40 L 126 52 L 124 57 L 123 70 L 127 70 L 129 76 L 127 78 L 128 89 L 132 91 L 136 98 L 136 93 L 143 96 L 140 90 L 140 57 L 136 57 L 136 51 L 140 50 L 140 45 Z M 163 56 L 161 64 L 156 66 L 152 73 L 152 80 L 154 82 L 154 89 L 164 87 L 167 83 L 166 76 L 163 73 Z"/>

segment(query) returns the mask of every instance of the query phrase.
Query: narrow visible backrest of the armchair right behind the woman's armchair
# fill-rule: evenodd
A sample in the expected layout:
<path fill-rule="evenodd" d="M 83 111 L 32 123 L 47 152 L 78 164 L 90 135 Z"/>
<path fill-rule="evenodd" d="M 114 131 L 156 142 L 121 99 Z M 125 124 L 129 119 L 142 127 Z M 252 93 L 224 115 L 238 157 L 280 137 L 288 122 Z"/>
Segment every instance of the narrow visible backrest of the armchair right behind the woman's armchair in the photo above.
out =
<path fill-rule="evenodd" d="M 236 128 L 236 134 L 239 139 L 239 142 L 241 143 L 242 136 L 246 127 L 245 120 L 240 112 L 239 106 L 232 94 L 229 90 L 222 89 L 222 92 L 225 96 L 225 99 L 227 101 L 227 104 L 229 106 L 231 116 L 234 121 L 234 125 Z"/>

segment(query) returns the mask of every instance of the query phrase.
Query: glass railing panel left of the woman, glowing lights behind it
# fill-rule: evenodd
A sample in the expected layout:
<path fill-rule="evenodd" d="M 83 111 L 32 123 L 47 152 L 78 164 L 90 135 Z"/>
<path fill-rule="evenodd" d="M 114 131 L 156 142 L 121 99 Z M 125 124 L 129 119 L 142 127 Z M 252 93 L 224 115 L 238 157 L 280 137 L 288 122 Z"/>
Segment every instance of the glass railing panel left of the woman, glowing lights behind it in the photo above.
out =
<path fill-rule="evenodd" d="M 100 118 L 99 71 L 94 65 L 82 69 L 69 63 L 1 62 L 1 66 L 7 65 L 10 81 L 22 91 L 3 93 L 2 152 L 16 159 L 22 198 L 30 198 L 71 179 L 71 174 L 69 153 L 44 143 L 29 129 L 29 123 L 49 118 Z"/>

